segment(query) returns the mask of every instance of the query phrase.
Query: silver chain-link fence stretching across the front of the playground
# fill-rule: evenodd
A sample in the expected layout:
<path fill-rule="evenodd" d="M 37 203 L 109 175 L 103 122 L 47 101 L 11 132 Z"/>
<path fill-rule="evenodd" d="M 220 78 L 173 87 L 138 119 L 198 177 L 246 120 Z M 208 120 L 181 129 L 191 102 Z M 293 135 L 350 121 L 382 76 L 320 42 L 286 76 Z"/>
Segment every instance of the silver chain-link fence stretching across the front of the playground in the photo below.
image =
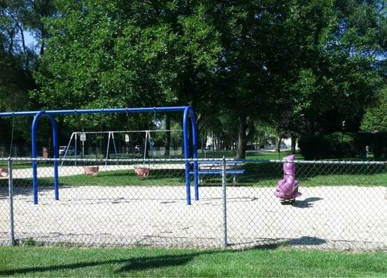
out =
<path fill-rule="evenodd" d="M 284 161 L 199 159 L 190 206 L 182 159 L 67 159 L 58 201 L 53 160 L 37 159 L 38 204 L 32 162 L 0 160 L 0 244 L 387 249 L 384 162 L 295 161 L 302 195 L 282 204 Z"/>

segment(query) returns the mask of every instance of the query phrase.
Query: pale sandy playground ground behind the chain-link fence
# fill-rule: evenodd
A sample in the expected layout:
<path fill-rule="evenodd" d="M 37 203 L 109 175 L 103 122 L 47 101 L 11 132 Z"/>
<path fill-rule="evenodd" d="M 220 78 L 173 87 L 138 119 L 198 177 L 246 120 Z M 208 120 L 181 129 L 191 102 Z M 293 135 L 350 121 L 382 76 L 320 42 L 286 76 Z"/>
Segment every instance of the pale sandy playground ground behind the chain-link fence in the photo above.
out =
<path fill-rule="evenodd" d="M 185 204 L 184 186 L 77 186 L 15 188 L 15 234 L 44 244 L 86 246 L 220 247 L 221 187 L 200 189 Z M 296 248 L 383 250 L 387 247 L 384 187 L 302 188 L 293 206 L 279 203 L 273 188 L 227 188 L 227 238 L 232 248 L 282 243 Z M 0 211 L 6 215 L 6 188 Z M 345 198 L 345 196 L 352 196 Z M 1 241 L 9 238 L 1 221 Z"/>

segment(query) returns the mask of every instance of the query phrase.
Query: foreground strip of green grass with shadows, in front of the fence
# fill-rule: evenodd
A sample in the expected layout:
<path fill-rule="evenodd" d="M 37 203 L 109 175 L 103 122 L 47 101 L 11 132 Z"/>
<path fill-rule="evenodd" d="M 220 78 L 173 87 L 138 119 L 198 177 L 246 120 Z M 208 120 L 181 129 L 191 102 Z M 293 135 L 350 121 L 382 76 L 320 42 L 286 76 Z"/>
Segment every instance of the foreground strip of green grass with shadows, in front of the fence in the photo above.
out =
<path fill-rule="evenodd" d="M 274 248 L 274 249 L 273 249 Z M 12 277 L 386 277 L 387 253 L 0 247 Z"/>

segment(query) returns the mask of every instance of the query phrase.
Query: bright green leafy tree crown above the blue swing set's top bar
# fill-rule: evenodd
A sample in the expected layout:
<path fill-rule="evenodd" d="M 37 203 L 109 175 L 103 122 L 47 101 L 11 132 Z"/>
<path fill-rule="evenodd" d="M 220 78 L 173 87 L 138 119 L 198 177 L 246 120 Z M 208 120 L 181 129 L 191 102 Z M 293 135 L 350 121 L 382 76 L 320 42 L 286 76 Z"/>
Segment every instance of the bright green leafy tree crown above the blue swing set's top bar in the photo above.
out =
<path fill-rule="evenodd" d="M 168 106 L 200 101 L 214 72 L 217 34 L 202 5 L 57 1 L 34 96 L 44 107 Z M 204 79 L 203 79 L 204 80 Z"/>

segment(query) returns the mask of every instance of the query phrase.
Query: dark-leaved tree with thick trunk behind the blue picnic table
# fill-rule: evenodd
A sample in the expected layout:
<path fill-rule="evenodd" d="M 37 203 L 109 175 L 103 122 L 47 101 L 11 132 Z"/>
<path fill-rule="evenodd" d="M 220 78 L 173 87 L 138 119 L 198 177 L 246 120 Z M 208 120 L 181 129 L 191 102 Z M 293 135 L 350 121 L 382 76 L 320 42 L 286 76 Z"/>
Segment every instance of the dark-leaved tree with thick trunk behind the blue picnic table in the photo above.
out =
<path fill-rule="evenodd" d="M 221 34 L 218 95 L 238 122 L 237 158 L 244 158 L 257 118 L 275 109 L 286 1 L 218 1 L 213 17 Z"/>

